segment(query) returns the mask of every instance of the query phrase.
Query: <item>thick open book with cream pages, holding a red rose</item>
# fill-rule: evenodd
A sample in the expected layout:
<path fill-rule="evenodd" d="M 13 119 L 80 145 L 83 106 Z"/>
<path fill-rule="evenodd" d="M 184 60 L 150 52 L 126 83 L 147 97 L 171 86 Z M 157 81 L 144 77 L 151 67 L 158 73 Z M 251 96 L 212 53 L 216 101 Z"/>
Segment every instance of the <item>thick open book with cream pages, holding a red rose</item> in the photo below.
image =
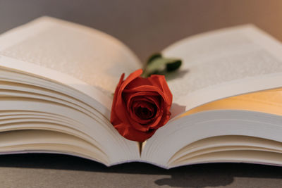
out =
<path fill-rule="evenodd" d="M 182 39 L 168 79 L 171 120 L 146 142 L 109 122 L 127 46 L 89 27 L 38 18 L 0 36 L 0 153 L 65 153 L 114 165 L 282 165 L 282 45 L 253 25 Z"/>

